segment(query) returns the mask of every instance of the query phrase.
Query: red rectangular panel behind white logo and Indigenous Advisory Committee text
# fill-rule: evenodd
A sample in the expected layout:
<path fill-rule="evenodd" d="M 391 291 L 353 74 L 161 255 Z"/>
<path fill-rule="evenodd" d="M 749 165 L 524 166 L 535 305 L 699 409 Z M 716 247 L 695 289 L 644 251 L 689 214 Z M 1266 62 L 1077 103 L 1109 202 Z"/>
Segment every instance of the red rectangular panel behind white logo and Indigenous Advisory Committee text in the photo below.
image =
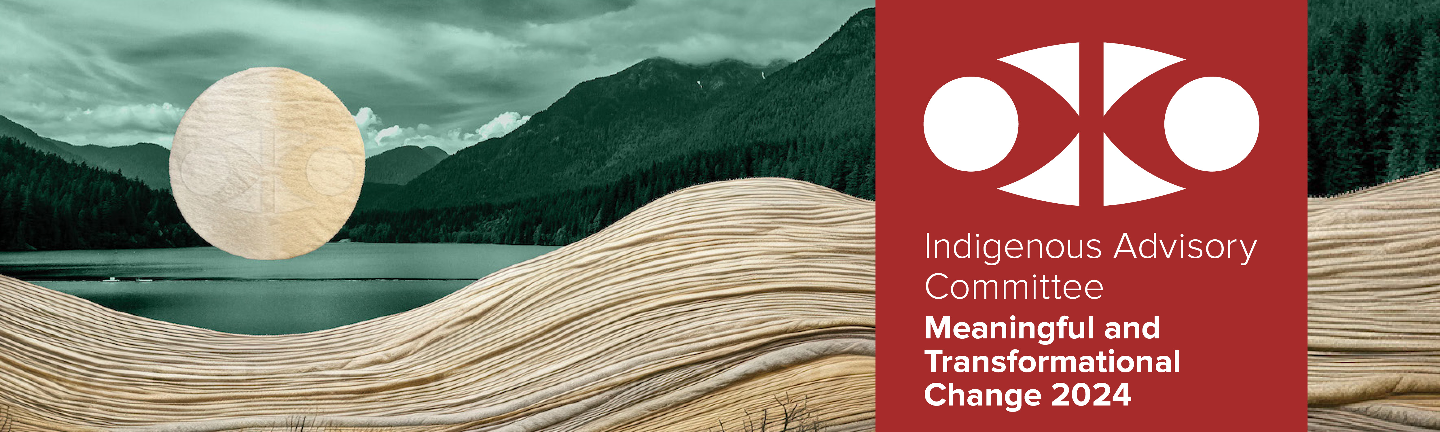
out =
<path fill-rule="evenodd" d="M 881 431 L 1214 431 L 1305 428 L 1305 134 L 1306 10 L 1303 1 L 886 1 L 878 7 L 878 425 Z M 1080 115 L 1040 79 L 999 58 L 1081 43 Z M 1102 121 L 1103 42 L 1185 60 L 1132 88 Z M 1009 156 L 982 171 L 953 170 L 926 144 L 923 115 L 943 84 L 981 76 L 1001 85 L 1020 112 Z M 1187 82 L 1223 76 L 1241 85 L 1260 114 L 1254 150 L 1223 171 L 1181 161 L 1165 140 L 1171 96 Z M 1102 206 L 1102 131 L 1136 164 L 1185 187 L 1166 196 Z M 996 190 L 1050 161 L 1080 134 L 1081 206 Z M 1096 239 L 1100 258 L 926 258 L 932 239 Z M 1231 259 L 1116 258 L 1122 233 L 1257 242 Z M 1149 246 L 1146 246 L 1149 248 Z M 1194 251 L 1185 249 L 1189 253 Z M 1212 249 L 1214 251 L 1214 249 Z M 1086 249 L 1094 255 L 1094 251 Z M 1146 251 L 1148 252 L 1148 251 Z M 935 300 L 926 278 L 1102 281 L 1100 300 Z M 946 285 L 935 284 L 942 291 Z M 1094 338 L 924 338 L 924 317 L 952 321 L 1070 321 L 1094 317 Z M 1159 338 L 1110 340 L 1103 323 L 1161 317 Z M 924 350 L 945 356 L 1181 354 L 1178 373 L 942 373 Z M 930 383 L 959 389 L 1037 389 L 1038 406 L 932 406 Z M 1054 383 L 1129 383 L 1129 406 L 1051 406 Z M 943 397 L 935 392 L 930 397 Z M 1097 396 L 1094 392 L 1093 396 Z M 1092 399 L 1093 399 L 1092 396 Z M 1113 395 L 1112 395 L 1113 396 Z"/>

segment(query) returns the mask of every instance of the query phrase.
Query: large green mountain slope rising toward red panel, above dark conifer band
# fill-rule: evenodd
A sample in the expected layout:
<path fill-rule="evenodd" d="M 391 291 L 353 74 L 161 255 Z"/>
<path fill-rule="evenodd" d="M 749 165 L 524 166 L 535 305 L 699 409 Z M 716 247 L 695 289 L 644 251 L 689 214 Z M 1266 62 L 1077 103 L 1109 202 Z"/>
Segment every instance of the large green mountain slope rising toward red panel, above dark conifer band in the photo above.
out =
<path fill-rule="evenodd" d="M 615 183 L 700 151 L 763 143 L 827 143 L 827 151 L 864 145 L 873 153 L 874 19 L 874 9 L 857 13 L 789 65 L 654 58 L 582 82 L 516 131 L 456 151 L 374 203 L 384 209 L 503 203 Z"/>

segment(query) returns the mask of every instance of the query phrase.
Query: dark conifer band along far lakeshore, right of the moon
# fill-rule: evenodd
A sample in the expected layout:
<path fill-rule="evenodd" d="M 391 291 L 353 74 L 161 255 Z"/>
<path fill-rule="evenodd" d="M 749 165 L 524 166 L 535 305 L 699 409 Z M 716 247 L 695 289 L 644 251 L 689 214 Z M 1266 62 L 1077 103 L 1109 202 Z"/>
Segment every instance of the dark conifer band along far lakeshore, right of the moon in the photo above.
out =
<path fill-rule="evenodd" d="M 832 141 L 757 143 L 654 163 L 603 186 L 503 204 L 356 212 L 336 238 L 370 243 L 566 245 L 674 190 L 743 177 L 798 179 L 873 200 L 873 131 Z"/>

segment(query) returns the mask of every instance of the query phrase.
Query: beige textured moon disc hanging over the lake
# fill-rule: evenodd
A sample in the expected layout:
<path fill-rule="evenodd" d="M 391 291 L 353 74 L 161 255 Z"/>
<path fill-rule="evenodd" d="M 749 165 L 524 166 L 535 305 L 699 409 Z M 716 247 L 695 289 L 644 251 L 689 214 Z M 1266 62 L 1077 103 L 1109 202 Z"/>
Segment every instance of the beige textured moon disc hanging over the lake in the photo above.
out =
<path fill-rule="evenodd" d="M 251 259 L 328 242 L 363 179 L 354 117 L 324 84 L 285 68 L 216 81 L 186 109 L 170 147 L 170 190 L 186 223 Z"/>

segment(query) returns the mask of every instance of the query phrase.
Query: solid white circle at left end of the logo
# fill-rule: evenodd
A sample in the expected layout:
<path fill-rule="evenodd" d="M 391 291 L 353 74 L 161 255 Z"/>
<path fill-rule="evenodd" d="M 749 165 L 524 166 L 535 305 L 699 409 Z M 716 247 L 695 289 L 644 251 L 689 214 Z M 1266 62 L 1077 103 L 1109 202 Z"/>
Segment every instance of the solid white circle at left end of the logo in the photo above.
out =
<path fill-rule="evenodd" d="M 985 78 L 946 82 L 924 107 L 924 141 L 930 153 L 960 171 L 998 164 L 1015 147 L 1018 132 L 1015 101 Z"/>

